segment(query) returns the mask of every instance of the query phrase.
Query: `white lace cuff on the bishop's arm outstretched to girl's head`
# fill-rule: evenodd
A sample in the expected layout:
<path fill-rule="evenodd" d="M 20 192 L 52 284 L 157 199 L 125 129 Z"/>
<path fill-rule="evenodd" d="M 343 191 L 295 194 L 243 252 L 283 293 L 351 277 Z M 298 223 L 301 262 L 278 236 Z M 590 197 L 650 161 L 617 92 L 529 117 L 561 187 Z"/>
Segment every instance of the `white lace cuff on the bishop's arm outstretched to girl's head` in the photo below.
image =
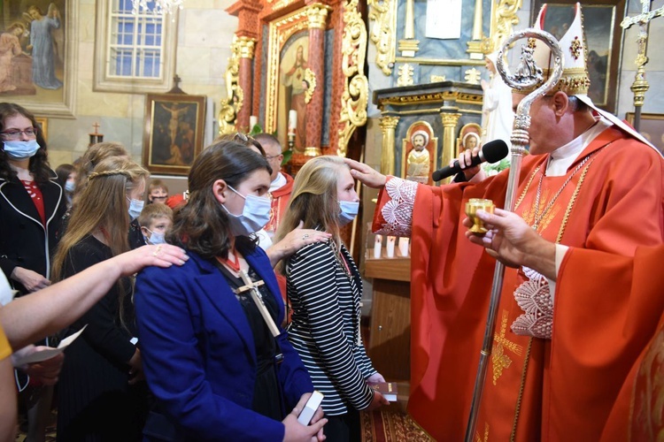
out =
<path fill-rule="evenodd" d="M 385 224 L 376 232 L 382 235 L 410 237 L 413 229 L 413 207 L 417 183 L 405 179 L 392 178 L 385 185 L 390 196 L 381 210 Z"/>

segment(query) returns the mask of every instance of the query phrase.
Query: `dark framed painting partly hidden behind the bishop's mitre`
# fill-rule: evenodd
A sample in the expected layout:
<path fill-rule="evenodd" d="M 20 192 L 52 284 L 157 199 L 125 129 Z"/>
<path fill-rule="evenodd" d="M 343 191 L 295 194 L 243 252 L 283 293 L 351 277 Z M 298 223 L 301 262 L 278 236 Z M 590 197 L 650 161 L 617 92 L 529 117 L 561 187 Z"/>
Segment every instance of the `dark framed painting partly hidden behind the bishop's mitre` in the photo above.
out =
<path fill-rule="evenodd" d="M 576 0 L 553 0 L 552 3 L 533 0 L 530 23 L 535 23 L 544 3 L 547 4 L 544 31 L 560 38 L 564 28 L 558 28 L 558 24 L 564 26 L 572 22 Z M 588 44 L 586 62 L 591 79 L 588 95 L 599 108 L 615 113 L 622 51 L 620 23 L 625 15 L 625 0 L 584 0 L 581 2 L 581 11 Z"/>

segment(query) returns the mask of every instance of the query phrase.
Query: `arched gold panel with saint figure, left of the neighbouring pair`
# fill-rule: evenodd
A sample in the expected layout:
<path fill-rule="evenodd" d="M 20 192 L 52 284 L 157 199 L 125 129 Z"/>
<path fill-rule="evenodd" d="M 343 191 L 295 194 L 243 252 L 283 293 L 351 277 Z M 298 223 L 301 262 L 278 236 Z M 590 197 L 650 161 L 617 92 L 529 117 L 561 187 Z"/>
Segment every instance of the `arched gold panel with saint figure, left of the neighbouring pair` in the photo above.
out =
<path fill-rule="evenodd" d="M 438 167 L 438 138 L 426 121 L 415 121 L 405 133 L 401 148 L 401 178 L 433 185 Z"/>

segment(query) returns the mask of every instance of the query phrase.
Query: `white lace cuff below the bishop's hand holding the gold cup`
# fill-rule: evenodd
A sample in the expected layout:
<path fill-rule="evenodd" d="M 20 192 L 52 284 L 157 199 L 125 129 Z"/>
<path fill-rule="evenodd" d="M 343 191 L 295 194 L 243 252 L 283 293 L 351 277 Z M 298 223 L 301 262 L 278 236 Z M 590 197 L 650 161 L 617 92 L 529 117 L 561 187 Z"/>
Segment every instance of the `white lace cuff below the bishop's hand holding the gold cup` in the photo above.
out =
<path fill-rule="evenodd" d="M 514 299 L 525 313 L 513 322 L 512 331 L 521 336 L 551 339 L 553 300 L 549 281 L 537 271 L 522 269 L 529 280 L 517 287 Z"/>

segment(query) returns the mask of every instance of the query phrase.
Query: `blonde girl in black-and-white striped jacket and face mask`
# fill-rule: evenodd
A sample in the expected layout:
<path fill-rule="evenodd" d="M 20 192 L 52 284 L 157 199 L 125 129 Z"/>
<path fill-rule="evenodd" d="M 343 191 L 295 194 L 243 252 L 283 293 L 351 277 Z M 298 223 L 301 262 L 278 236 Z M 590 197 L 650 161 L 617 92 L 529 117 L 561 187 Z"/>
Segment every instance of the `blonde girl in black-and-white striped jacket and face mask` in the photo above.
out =
<path fill-rule="evenodd" d="M 281 240 L 301 221 L 332 234 L 305 246 L 286 262 L 293 308 L 290 343 L 305 362 L 313 386 L 325 395 L 328 441 L 359 441 L 359 410 L 387 404 L 370 383 L 385 382 L 367 357 L 359 330 L 362 279 L 339 231 L 358 214 L 359 197 L 344 160 L 318 156 L 295 178 L 289 208 L 279 225 Z"/>

